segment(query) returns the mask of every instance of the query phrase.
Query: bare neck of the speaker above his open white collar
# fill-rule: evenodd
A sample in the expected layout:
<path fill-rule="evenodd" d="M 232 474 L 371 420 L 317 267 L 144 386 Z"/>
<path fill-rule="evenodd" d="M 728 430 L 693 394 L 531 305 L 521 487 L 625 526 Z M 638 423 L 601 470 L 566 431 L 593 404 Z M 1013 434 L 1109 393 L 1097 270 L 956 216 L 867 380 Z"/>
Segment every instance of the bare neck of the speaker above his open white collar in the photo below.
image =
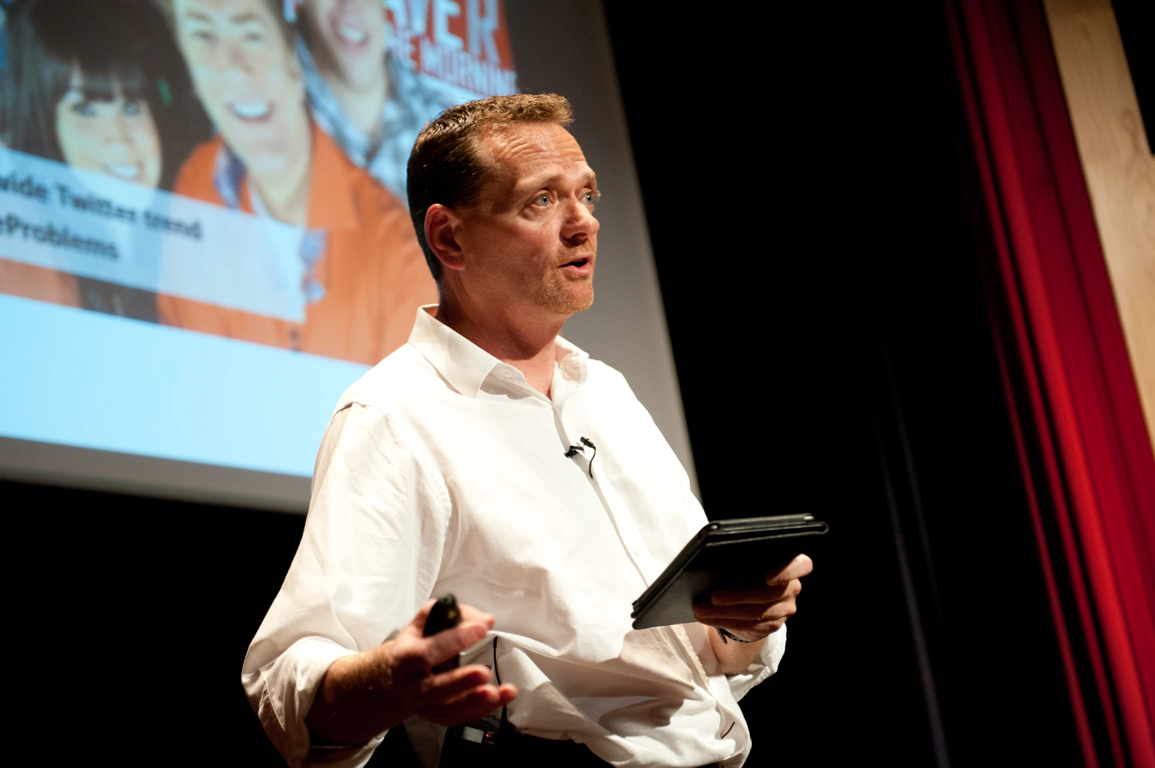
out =
<path fill-rule="evenodd" d="M 448 276 L 447 276 L 448 277 Z M 550 397 L 557 355 L 554 339 L 568 317 L 530 317 L 517 311 L 480 311 L 475 302 L 461 301 L 441 287 L 437 318 L 482 349 L 520 370 L 535 390 Z"/>

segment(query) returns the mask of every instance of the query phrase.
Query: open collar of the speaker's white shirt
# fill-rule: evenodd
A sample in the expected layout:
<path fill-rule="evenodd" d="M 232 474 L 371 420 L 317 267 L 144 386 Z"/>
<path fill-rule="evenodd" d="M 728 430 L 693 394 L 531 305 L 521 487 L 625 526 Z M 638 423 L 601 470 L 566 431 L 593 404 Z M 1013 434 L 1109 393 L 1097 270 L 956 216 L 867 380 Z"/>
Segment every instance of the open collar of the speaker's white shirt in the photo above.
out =
<path fill-rule="evenodd" d="M 409 334 L 409 344 L 430 361 L 453 389 L 476 398 L 482 383 L 494 368 L 512 367 L 433 317 L 431 311 L 435 309 L 437 304 L 426 304 L 417 310 L 417 322 Z M 584 383 L 589 355 L 560 336 L 554 340 L 554 351 L 562 378 L 576 384 Z"/>

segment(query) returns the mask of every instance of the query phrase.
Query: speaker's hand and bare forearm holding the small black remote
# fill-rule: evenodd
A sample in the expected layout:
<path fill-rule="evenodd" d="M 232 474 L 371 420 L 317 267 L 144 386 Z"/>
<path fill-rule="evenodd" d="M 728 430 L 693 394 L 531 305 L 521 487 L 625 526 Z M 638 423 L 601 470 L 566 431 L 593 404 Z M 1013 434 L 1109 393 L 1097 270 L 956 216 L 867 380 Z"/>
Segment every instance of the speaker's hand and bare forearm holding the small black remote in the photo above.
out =
<path fill-rule="evenodd" d="M 491 685 L 482 664 L 433 673 L 482 640 L 493 617 L 463 604 L 461 624 L 423 638 L 432 607 L 432 600 L 425 603 L 393 640 L 333 662 L 305 717 L 314 741 L 363 744 L 412 715 L 460 725 L 513 701 L 517 688 Z"/>

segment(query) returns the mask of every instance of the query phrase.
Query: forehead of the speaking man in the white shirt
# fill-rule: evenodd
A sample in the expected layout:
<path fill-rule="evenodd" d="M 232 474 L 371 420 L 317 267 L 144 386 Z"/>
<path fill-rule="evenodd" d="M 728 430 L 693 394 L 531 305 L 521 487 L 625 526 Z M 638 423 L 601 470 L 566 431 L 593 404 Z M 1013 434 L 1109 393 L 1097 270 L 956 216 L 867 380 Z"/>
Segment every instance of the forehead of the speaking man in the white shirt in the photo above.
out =
<path fill-rule="evenodd" d="M 573 135 L 557 123 L 521 122 L 482 135 L 498 175 L 516 186 L 539 175 L 591 173 Z"/>

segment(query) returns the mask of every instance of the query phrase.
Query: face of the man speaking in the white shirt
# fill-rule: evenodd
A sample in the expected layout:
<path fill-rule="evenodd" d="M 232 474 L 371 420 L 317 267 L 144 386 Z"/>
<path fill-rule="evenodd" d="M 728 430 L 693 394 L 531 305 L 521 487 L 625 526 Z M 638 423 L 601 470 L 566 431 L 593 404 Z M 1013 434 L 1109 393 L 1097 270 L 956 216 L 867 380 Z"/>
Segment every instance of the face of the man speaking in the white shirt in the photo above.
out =
<path fill-rule="evenodd" d="M 574 137 L 556 123 L 487 130 L 493 172 L 459 210 L 467 287 L 500 306 L 572 315 L 594 303 L 597 180 Z"/>

